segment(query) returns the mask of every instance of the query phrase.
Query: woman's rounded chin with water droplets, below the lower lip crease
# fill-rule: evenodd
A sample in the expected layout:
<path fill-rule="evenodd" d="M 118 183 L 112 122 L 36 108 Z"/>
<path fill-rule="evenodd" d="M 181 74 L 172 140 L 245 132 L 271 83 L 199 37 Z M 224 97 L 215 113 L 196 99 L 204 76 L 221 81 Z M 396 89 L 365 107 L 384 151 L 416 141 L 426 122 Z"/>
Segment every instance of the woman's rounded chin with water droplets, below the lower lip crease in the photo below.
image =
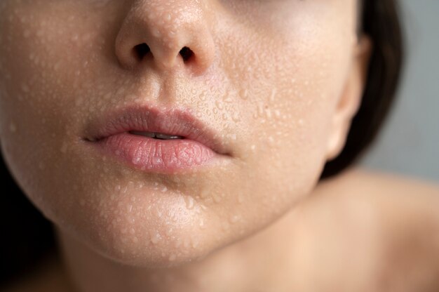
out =
<path fill-rule="evenodd" d="M 139 196 L 135 205 L 132 198 L 83 204 L 74 218 L 53 218 L 58 234 L 90 256 L 151 268 L 201 260 L 242 237 L 243 226 L 224 225 L 210 208 L 186 208 L 182 196 Z"/>

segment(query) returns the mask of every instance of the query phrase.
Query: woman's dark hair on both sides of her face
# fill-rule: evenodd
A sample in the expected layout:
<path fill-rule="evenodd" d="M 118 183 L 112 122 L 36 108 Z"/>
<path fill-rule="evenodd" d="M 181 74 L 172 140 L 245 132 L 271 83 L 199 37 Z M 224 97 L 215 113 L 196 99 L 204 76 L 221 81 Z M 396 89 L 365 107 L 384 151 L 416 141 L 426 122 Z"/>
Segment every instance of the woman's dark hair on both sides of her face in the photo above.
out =
<path fill-rule="evenodd" d="M 363 101 L 344 150 L 327 162 L 321 180 L 337 175 L 360 157 L 377 136 L 395 98 L 403 62 L 396 0 L 365 1 L 360 25 L 373 43 Z M 6 179 L 4 190 L 8 190 L 0 196 L 1 231 L 7 234 L 0 246 L 0 285 L 3 286 L 6 281 L 31 271 L 48 253 L 55 253 L 55 237 L 51 224 L 22 194 L 1 155 L 0 159 L 0 175 Z"/>

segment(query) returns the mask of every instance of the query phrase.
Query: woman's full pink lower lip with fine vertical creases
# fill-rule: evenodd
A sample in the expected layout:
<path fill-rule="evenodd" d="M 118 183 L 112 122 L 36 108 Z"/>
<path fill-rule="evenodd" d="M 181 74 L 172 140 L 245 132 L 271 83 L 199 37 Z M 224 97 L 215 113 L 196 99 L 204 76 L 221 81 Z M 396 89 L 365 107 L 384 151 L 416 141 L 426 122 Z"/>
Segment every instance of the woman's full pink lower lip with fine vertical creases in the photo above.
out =
<path fill-rule="evenodd" d="M 97 145 L 142 171 L 175 173 L 208 164 L 215 151 L 194 140 L 160 140 L 128 132 L 98 140 Z"/>

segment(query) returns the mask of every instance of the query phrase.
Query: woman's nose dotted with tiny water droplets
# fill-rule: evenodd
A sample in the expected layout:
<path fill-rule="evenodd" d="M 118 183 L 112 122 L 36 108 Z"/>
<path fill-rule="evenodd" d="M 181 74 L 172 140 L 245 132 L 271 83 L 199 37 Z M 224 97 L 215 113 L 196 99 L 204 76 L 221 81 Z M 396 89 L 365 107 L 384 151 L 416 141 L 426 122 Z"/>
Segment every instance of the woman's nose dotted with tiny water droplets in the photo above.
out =
<path fill-rule="evenodd" d="M 215 58 L 208 1 L 134 0 L 116 36 L 116 56 L 129 69 L 145 62 L 158 70 L 201 74 Z"/>

